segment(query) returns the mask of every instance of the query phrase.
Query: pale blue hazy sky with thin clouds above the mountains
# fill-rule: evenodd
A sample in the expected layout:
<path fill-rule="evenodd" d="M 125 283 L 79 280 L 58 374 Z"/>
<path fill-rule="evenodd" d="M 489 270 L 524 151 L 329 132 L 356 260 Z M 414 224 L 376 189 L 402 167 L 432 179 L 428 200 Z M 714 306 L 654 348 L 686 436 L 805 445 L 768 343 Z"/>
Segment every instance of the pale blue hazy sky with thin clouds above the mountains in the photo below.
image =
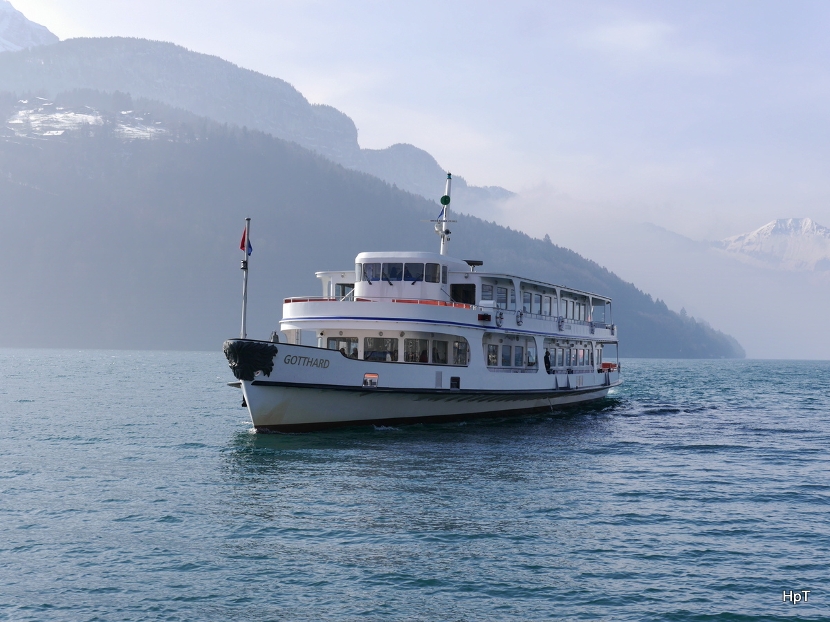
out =
<path fill-rule="evenodd" d="M 697 239 L 830 226 L 824 0 L 12 5 L 61 39 L 173 41 L 282 78 L 354 119 L 362 147 L 413 143 L 594 217 Z"/>

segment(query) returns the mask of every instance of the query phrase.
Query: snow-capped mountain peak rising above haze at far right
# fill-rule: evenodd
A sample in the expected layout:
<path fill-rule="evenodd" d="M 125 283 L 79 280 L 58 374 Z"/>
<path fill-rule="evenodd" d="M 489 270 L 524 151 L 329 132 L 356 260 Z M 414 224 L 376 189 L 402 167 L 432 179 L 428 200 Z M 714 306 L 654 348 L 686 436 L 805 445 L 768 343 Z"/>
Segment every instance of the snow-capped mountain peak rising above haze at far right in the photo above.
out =
<path fill-rule="evenodd" d="M 772 221 L 715 246 L 778 270 L 830 271 L 830 229 L 809 218 Z"/>

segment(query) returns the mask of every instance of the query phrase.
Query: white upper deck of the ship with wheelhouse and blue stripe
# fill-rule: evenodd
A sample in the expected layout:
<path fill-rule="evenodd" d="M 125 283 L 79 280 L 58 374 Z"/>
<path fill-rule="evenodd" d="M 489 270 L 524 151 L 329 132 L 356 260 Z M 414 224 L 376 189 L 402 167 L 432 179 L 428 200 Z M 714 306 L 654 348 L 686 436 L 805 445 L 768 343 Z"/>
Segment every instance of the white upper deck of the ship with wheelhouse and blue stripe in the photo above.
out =
<path fill-rule="evenodd" d="M 282 324 L 311 328 L 315 318 L 328 323 L 394 320 L 616 341 L 611 299 L 541 280 L 478 272 L 478 265 L 437 253 L 360 253 L 354 270 L 316 273 L 322 296 L 286 299 Z M 336 310 L 333 303 L 340 303 Z"/>

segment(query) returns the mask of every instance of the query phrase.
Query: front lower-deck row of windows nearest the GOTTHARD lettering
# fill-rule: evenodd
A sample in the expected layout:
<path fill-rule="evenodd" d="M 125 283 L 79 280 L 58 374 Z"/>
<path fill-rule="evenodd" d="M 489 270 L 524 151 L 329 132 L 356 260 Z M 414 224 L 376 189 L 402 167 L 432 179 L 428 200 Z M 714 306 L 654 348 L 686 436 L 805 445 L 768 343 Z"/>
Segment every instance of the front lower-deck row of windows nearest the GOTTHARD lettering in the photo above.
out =
<path fill-rule="evenodd" d="M 432 362 L 438 365 L 466 365 L 469 350 L 466 339 L 403 339 L 403 359 L 399 359 L 398 338 L 364 337 L 364 361 L 380 362 Z M 330 337 L 327 346 L 339 350 L 349 358 L 359 358 L 358 338 Z"/>

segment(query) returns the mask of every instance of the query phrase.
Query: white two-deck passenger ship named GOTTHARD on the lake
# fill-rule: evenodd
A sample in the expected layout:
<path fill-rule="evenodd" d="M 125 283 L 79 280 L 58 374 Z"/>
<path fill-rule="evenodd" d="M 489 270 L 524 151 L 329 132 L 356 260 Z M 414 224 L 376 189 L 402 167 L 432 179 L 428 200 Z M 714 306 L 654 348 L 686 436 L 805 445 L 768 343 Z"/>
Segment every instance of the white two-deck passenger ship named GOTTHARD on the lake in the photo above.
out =
<path fill-rule="evenodd" d="M 429 221 L 440 253 L 364 252 L 316 273 L 322 295 L 286 299 L 271 341 L 245 338 L 243 302 L 242 338 L 223 349 L 257 431 L 548 412 L 622 382 L 611 299 L 448 255 L 451 179 Z M 242 268 L 247 284 L 247 255 Z"/>

